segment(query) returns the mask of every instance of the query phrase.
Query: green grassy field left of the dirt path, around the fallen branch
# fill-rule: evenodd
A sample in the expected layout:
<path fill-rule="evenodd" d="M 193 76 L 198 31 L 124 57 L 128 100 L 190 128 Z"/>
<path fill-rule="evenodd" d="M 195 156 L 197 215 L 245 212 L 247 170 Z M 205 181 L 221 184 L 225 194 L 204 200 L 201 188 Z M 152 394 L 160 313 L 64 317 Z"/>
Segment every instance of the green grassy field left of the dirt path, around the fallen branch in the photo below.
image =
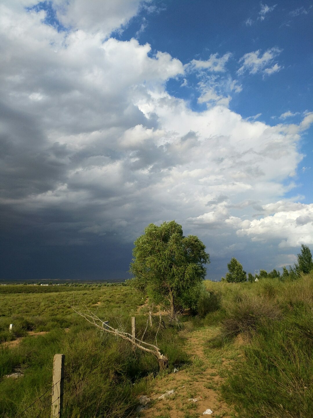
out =
<path fill-rule="evenodd" d="M 59 286 L 61 290 L 55 292 L 56 287 L 47 286 L 44 292 L 38 292 L 39 286 L 37 289 L 25 285 L 5 288 L 6 292 L 0 296 L 2 338 L 7 341 L 24 338 L 14 347 L 0 346 L 0 416 L 15 417 L 35 402 L 23 417 L 39 414 L 50 417 L 56 353 L 65 354 L 63 418 L 128 416 L 137 404 L 137 396 L 149 393 L 158 372 L 156 359 L 149 353 L 134 352 L 128 342 L 97 331 L 75 314 L 71 309 L 73 289 L 64 287 L 61 291 Z M 33 292 L 24 292 L 26 288 Z M 74 293 L 74 301 L 82 301 L 113 327 L 123 322 L 128 332 L 131 316 L 142 303 L 142 297 L 123 286 L 79 288 Z M 101 304 L 95 305 L 98 301 Z M 138 336 L 144 333 L 146 319 L 136 314 Z M 10 323 L 14 324 L 12 333 L 7 331 Z M 152 329 L 148 327 L 147 342 L 155 344 L 157 327 L 156 322 Z M 29 336 L 28 331 L 48 332 Z M 183 350 L 184 339 L 176 329 L 159 329 L 157 341 L 169 356 L 169 370 L 189 361 Z M 23 377 L 15 380 L 5 377 L 14 372 L 23 373 Z"/>

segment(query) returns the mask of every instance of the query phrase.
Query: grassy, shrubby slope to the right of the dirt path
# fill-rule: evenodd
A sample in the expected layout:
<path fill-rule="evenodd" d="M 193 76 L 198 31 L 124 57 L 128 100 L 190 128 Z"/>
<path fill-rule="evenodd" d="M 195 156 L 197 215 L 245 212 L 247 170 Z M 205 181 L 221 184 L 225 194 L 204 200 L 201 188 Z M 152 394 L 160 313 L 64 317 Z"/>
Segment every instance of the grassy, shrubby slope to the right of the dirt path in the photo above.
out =
<path fill-rule="evenodd" d="M 235 287 L 235 288 L 234 288 Z M 222 395 L 238 417 L 308 418 L 313 410 L 313 274 L 282 283 L 208 283 L 222 291 L 222 349 L 237 336 L 242 356 L 227 370 Z M 209 315 L 210 317 L 210 315 Z"/>

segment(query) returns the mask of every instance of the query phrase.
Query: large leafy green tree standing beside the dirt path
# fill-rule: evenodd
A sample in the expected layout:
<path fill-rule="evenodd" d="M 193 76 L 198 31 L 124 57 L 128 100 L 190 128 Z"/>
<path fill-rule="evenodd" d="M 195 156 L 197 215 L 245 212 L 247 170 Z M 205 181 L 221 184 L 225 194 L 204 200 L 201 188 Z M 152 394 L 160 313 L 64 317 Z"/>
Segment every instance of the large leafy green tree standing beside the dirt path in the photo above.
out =
<path fill-rule="evenodd" d="M 149 224 L 134 246 L 131 284 L 156 301 L 168 303 L 173 319 L 177 300 L 204 280 L 204 264 L 210 263 L 210 255 L 198 237 L 184 237 L 182 226 L 175 221 L 159 227 Z"/>

